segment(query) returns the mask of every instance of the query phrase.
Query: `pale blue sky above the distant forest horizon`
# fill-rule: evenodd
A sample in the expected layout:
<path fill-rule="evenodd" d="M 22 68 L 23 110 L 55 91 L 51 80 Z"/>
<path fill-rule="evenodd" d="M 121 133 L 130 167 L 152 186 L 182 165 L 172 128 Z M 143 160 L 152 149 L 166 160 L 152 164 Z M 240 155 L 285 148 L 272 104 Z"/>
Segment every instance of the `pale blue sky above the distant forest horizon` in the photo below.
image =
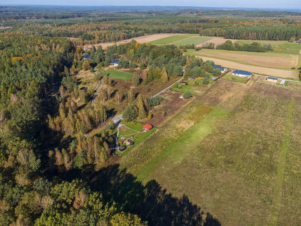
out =
<path fill-rule="evenodd" d="M 172 6 L 200 6 L 200 7 L 253 7 L 253 8 L 301 8 L 300 0 L 215 0 L 215 1 L 182 1 L 182 0 L 152 0 L 151 2 L 141 2 L 138 0 L 115 0 L 115 1 L 99 1 L 99 0 L 1 0 L 0 5 L 172 5 Z"/>

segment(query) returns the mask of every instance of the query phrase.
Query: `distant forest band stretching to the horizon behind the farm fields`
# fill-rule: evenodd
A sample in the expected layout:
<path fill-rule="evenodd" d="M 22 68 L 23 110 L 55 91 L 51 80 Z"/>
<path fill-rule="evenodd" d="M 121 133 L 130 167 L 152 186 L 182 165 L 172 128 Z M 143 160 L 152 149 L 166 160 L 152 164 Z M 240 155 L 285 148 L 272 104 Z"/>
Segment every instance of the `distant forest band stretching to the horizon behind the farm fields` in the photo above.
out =
<path fill-rule="evenodd" d="M 22 33 L 78 38 L 73 40 L 76 45 L 116 42 L 151 33 L 198 33 L 227 39 L 276 41 L 301 38 L 301 13 L 297 12 L 137 9 L 131 13 L 116 10 L 112 15 L 109 11 L 105 8 L 95 12 L 89 7 L 23 11 L 7 6 L 0 9 L 5 12 L 0 19 L 11 30 Z"/>

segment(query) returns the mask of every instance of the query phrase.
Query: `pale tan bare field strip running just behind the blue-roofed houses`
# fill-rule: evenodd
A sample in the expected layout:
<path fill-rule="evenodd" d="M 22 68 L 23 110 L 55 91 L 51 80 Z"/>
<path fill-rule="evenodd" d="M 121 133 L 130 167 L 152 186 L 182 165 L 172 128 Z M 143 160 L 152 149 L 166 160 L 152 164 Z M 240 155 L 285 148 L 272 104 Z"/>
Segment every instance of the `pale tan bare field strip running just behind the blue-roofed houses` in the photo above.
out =
<path fill-rule="evenodd" d="M 200 56 L 199 56 L 200 57 Z M 247 64 L 240 64 L 233 61 L 227 61 L 227 60 L 221 60 L 216 58 L 210 58 L 210 57 L 200 57 L 203 59 L 203 61 L 211 60 L 214 61 L 215 64 L 222 65 L 223 67 L 230 67 L 244 70 L 244 71 L 250 71 L 252 73 L 258 73 L 263 75 L 269 75 L 269 76 L 276 76 L 281 78 L 295 78 L 298 79 L 296 71 L 289 71 L 289 70 L 282 70 L 282 69 L 275 69 L 275 68 L 268 68 L 268 67 L 258 67 L 253 65 L 247 65 Z"/>

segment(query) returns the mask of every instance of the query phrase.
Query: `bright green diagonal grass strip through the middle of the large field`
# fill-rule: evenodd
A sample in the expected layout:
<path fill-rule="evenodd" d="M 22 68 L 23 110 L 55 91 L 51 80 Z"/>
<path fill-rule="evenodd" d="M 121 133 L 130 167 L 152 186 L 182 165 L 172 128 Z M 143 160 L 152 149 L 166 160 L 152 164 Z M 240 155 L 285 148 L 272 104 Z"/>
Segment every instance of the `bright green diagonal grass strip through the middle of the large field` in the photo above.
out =
<path fill-rule="evenodd" d="M 196 147 L 211 133 L 213 126 L 217 123 L 217 119 L 225 117 L 228 115 L 228 112 L 218 106 L 213 108 L 200 121 L 186 130 L 181 137 L 164 149 L 160 155 L 157 155 L 151 162 L 141 168 L 137 173 L 138 180 L 145 182 L 147 177 L 155 171 L 157 165 L 166 158 L 168 158 L 170 166 L 184 159 L 185 154 L 190 151 L 191 147 Z"/>

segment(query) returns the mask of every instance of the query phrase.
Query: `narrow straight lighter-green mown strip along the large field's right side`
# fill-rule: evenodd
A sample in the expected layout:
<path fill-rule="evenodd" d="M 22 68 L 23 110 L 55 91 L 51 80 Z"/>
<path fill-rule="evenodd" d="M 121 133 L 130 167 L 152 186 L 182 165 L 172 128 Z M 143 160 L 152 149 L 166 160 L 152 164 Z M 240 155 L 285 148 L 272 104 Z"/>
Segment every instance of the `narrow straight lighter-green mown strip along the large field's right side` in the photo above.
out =
<path fill-rule="evenodd" d="M 285 164 L 287 158 L 287 151 L 290 147 L 290 128 L 293 120 L 293 107 L 294 107 L 294 99 L 291 100 L 287 111 L 287 121 L 285 125 L 284 138 L 283 138 L 284 141 L 279 157 L 271 215 L 268 221 L 269 226 L 277 226 L 278 218 L 281 210 L 283 178 L 284 178 Z"/>

